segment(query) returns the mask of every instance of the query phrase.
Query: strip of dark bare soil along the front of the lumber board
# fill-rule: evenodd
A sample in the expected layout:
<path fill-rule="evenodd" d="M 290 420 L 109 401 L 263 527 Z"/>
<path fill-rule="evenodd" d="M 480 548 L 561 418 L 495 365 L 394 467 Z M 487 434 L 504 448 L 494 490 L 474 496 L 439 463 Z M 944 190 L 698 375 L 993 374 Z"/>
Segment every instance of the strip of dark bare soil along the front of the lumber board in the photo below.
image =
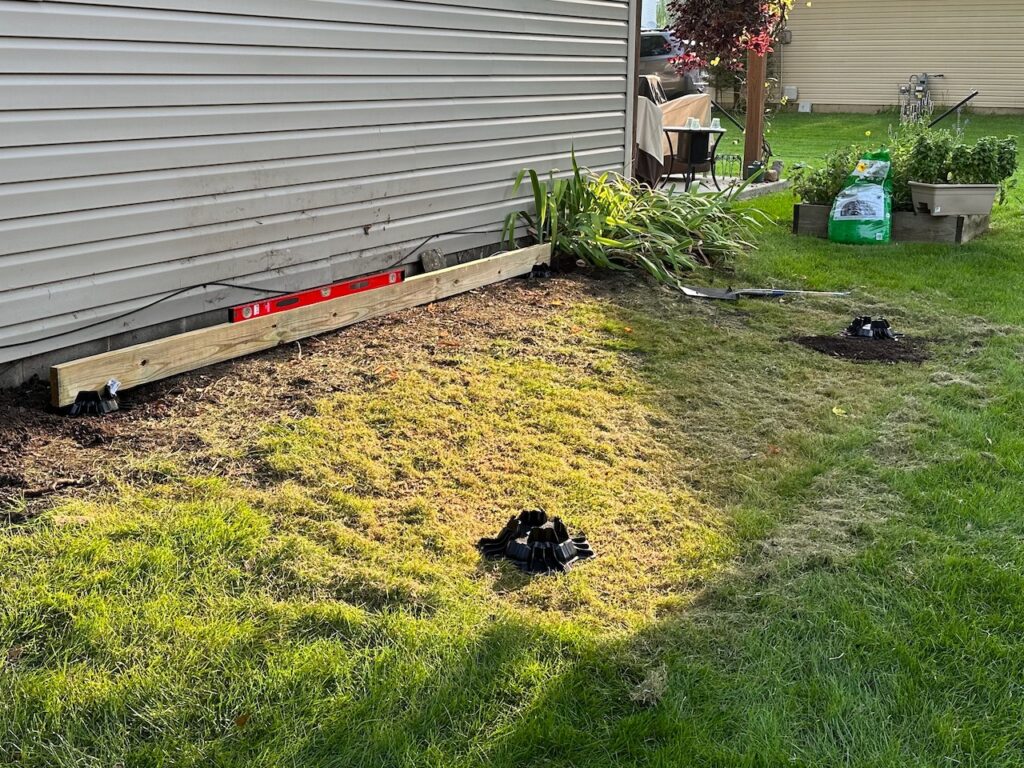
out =
<path fill-rule="evenodd" d="M 614 284 L 603 290 L 618 290 Z M 0 530 L 68 496 L 96 493 L 164 456 L 197 472 L 245 481 L 251 468 L 211 451 L 204 432 L 246 444 L 254 422 L 308 415 L 332 392 L 376 386 L 428 358 L 447 365 L 497 339 L 534 344 L 527 329 L 602 293 L 583 276 L 508 281 L 344 331 L 220 364 L 126 392 L 121 411 L 72 419 L 49 407 L 47 382 L 0 390 Z"/>

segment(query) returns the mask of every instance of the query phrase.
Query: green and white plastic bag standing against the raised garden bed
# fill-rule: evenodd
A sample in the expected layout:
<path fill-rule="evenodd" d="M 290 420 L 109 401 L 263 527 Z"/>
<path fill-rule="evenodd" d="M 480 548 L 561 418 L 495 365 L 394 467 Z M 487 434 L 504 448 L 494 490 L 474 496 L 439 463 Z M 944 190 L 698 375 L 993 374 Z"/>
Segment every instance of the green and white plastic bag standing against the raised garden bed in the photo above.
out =
<path fill-rule="evenodd" d="M 866 154 L 846 179 L 828 216 L 828 240 L 865 245 L 893 234 L 893 164 L 885 150 Z"/>

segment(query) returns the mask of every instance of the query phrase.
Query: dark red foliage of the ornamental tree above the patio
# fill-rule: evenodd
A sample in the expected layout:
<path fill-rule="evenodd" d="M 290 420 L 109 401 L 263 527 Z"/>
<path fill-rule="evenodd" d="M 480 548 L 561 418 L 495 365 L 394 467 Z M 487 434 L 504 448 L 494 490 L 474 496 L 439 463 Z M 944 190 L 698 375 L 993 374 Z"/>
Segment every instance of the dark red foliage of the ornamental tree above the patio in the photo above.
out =
<path fill-rule="evenodd" d="M 741 69 L 748 52 L 771 52 L 792 8 L 793 0 L 672 0 L 672 31 L 691 41 L 681 63 Z"/>

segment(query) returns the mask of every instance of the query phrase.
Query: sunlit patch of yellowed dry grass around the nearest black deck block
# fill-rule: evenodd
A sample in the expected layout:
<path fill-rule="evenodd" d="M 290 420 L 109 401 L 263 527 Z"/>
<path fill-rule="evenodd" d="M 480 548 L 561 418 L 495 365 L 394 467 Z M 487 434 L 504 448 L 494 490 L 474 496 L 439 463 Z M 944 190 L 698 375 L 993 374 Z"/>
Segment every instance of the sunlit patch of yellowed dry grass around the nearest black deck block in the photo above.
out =
<path fill-rule="evenodd" d="M 585 314 L 571 319 L 584 325 L 559 321 L 546 332 L 555 345 L 562 334 L 575 339 L 550 350 L 558 365 L 499 343 L 490 356 L 406 371 L 323 399 L 315 416 L 268 425 L 258 460 L 315 500 L 329 520 L 318 536 L 347 557 L 434 584 L 452 600 L 489 594 L 609 627 L 649 618 L 735 548 L 721 511 L 687 487 L 651 427 L 649 385 L 616 354 L 616 322 L 599 307 Z M 600 557 L 564 580 L 481 564 L 475 542 L 534 507 L 586 531 Z"/>

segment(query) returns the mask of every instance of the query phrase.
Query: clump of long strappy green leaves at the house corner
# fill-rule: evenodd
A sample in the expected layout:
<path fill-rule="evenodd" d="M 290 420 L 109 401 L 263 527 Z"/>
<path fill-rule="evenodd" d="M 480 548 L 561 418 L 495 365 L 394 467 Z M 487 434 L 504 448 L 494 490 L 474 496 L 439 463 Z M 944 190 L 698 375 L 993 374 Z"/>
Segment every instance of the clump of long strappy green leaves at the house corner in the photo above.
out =
<path fill-rule="evenodd" d="M 603 269 L 643 269 L 673 287 L 698 267 L 754 248 L 748 236 L 764 221 L 763 214 L 735 207 L 726 193 L 650 189 L 617 174 L 585 171 L 575 157 L 564 177 L 552 172 L 542 181 L 537 171 L 522 171 L 513 191 L 527 178 L 534 211 L 508 216 L 507 242 L 514 243 L 521 222 L 558 253 Z"/>

